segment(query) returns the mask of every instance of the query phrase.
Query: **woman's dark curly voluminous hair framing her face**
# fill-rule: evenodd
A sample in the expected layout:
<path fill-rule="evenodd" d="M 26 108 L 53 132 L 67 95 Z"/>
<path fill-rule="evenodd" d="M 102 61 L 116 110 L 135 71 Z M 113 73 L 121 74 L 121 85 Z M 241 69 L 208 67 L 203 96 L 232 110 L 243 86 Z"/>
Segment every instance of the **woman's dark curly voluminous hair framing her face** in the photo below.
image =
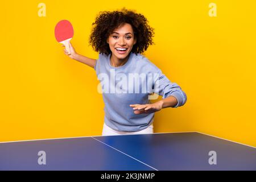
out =
<path fill-rule="evenodd" d="M 121 11 L 100 11 L 96 17 L 96 21 L 92 24 L 92 34 L 89 38 L 89 46 L 92 45 L 96 52 L 109 55 L 111 50 L 106 40 L 112 32 L 125 23 L 131 24 L 137 43 L 134 44 L 131 52 L 143 53 L 149 45 L 154 44 L 154 28 L 148 25 L 148 20 L 142 15 L 134 11 L 126 10 L 125 7 Z"/>

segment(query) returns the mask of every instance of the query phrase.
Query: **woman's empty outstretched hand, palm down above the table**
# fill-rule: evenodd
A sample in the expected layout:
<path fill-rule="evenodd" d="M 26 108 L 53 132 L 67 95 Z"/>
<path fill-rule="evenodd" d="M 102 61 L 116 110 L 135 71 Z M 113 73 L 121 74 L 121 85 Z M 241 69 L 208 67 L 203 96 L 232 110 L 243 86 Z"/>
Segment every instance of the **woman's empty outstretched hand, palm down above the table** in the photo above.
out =
<path fill-rule="evenodd" d="M 134 104 L 130 105 L 130 107 L 133 107 L 134 114 L 149 114 L 149 113 L 155 113 L 156 111 L 159 111 L 162 109 L 162 102 L 155 102 L 154 104 Z"/>

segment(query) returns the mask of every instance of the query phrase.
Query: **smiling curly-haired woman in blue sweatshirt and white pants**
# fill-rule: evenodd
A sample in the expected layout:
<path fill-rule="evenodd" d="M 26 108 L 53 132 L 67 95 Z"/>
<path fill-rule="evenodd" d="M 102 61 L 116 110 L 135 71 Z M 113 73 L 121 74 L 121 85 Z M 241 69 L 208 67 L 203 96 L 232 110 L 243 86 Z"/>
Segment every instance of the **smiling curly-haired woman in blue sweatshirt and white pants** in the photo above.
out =
<path fill-rule="evenodd" d="M 79 55 L 71 47 L 66 55 L 92 67 L 101 81 L 105 104 L 102 135 L 151 134 L 154 113 L 183 106 L 187 96 L 141 53 L 152 45 L 154 29 L 142 14 L 122 9 L 103 11 L 93 23 L 89 43 L 97 60 Z M 135 88 L 134 88 L 135 85 Z M 157 93 L 161 101 L 152 103 Z"/>

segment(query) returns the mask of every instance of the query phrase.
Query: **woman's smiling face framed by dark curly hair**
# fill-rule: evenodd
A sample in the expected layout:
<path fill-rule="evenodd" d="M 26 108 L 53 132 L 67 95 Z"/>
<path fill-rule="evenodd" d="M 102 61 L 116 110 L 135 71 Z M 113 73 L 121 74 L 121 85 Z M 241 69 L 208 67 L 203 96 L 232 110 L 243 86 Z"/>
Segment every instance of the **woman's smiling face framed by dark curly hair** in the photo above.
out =
<path fill-rule="evenodd" d="M 125 23 L 110 34 L 107 42 L 112 51 L 113 59 L 126 60 L 134 44 L 136 44 L 133 28 L 129 23 Z"/>

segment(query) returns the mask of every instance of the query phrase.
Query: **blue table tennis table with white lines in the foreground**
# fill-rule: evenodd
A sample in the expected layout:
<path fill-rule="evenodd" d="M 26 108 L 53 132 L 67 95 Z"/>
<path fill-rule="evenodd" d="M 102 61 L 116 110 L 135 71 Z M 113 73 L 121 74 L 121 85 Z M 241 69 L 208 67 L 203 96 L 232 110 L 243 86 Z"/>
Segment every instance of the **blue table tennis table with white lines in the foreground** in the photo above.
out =
<path fill-rule="evenodd" d="M 256 148 L 196 132 L 30 140 L 0 143 L 0 170 L 256 170 Z"/>

